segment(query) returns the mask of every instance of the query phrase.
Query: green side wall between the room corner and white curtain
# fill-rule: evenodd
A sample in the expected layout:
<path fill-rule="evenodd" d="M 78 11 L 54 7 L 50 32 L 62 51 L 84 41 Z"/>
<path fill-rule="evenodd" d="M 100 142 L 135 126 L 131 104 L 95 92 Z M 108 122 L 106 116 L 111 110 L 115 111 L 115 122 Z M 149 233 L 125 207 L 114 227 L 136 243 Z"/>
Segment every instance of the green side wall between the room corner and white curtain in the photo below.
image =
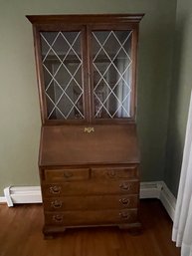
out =
<path fill-rule="evenodd" d="M 192 89 L 192 2 L 177 1 L 164 180 L 177 195 Z"/>

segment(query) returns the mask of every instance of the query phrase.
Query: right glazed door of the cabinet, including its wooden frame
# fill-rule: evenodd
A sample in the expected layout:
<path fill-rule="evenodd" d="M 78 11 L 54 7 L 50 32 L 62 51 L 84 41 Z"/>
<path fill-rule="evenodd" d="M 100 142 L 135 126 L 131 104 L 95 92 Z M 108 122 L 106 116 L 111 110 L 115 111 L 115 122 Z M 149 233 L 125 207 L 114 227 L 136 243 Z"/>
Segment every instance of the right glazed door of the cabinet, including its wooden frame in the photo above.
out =
<path fill-rule="evenodd" d="M 94 123 L 134 120 L 136 37 L 130 25 L 90 29 Z"/>

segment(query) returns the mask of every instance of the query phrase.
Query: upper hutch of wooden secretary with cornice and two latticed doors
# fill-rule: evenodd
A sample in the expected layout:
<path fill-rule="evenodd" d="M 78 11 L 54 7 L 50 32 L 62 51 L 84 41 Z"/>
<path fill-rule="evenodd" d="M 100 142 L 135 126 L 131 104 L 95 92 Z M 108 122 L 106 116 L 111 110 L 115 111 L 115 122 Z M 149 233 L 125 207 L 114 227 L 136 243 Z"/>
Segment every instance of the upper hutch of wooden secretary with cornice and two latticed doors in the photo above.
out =
<path fill-rule="evenodd" d="M 32 15 L 42 123 L 135 122 L 143 14 Z"/>

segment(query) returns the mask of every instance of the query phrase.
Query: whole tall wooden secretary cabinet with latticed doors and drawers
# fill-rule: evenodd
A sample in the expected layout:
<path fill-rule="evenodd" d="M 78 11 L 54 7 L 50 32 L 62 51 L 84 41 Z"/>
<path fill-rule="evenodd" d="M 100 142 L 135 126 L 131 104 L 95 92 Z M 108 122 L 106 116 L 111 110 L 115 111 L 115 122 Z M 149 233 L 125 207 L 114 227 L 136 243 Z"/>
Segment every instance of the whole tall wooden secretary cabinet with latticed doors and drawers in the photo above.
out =
<path fill-rule="evenodd" d="M 42 117 L 45 234 L 74 226 L 139 226 L 135 117 L 142 16 L 27 16 Z"/>

